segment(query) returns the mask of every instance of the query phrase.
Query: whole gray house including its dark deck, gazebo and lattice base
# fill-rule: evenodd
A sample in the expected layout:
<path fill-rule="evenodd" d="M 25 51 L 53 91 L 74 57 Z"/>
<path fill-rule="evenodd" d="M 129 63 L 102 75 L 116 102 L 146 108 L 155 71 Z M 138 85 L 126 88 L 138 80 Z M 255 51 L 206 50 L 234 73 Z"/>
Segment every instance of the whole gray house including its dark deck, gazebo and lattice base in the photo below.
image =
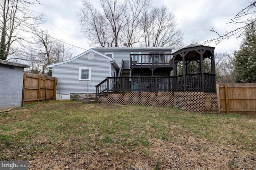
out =
<path fill-rule="evenodd" d="M 191 44 L 172 53 L 173 49 L 98 47 L 52 64 L 49 67 L 58 78 L 57 100 L 81 99 L 89 93 L 96 96 L 96 102 L 218 113 L 214 47 Z M 188 72 L 192 63 L 198 72 Z"/>

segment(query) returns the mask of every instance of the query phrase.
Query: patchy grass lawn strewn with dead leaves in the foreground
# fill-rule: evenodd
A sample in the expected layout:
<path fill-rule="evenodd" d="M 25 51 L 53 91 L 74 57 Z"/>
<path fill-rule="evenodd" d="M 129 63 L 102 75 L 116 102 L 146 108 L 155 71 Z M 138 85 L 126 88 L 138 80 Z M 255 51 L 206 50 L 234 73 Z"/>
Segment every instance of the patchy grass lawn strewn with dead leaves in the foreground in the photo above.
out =
<path fill-rule="evenodd" d="M 256 168 L 256 117 L 49 101 L 0 114 L 0 160 L 28 169 Z"/>

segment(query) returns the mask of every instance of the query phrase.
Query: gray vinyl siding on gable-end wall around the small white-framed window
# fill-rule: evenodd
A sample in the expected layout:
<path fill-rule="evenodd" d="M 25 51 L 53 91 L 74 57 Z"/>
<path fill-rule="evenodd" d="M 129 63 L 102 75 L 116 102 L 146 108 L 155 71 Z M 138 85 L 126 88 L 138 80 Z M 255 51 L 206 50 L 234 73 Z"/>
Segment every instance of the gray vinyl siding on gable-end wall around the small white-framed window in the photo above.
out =
<path fill-rule="evenodd" d="M 92 53 L 92 52 L 90 52 Z M 110 76 L 110 60 L 94 53 L 88 60 L 85 54 L 68 63 L 53 66 L 53 76 L 58 78 L 56 93 L 95 93 L 95 86 Z M 78 80 L 79 68 L 91 67 L 91 80 Z"/>

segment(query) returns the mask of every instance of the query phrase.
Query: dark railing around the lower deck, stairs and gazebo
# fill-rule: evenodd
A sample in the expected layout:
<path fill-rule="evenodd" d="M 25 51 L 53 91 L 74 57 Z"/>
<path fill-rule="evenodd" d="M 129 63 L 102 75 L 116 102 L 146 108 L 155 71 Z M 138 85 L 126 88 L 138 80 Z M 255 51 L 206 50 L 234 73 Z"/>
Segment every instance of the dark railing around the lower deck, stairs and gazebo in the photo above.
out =
<path fill-rule="evenodd" d="M 99 95 L 125 92 L 216 91 L 215 74 L 185 74 L 178 76 L 107 77 L 96 86 Z M 185 90 L 184 90 L 185 87 Z"/>

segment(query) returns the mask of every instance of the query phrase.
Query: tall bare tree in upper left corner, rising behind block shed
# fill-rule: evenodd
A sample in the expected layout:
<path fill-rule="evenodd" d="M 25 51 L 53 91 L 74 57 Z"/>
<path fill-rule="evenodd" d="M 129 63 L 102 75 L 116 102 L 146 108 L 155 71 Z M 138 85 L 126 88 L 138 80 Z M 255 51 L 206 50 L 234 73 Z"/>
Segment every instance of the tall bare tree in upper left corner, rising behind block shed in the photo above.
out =
<path fill-rule="evenodd" d="M 23 50 L 17 46 L 24 46 L 33 37 L 36 25 L 43 22 L 43 15 L 35 16 L 30 9 L 34 3 L 39 4 L 37 0 L 0 0 L 0 59 L 6 60 L 8 55 L 22 53 Z"/>

